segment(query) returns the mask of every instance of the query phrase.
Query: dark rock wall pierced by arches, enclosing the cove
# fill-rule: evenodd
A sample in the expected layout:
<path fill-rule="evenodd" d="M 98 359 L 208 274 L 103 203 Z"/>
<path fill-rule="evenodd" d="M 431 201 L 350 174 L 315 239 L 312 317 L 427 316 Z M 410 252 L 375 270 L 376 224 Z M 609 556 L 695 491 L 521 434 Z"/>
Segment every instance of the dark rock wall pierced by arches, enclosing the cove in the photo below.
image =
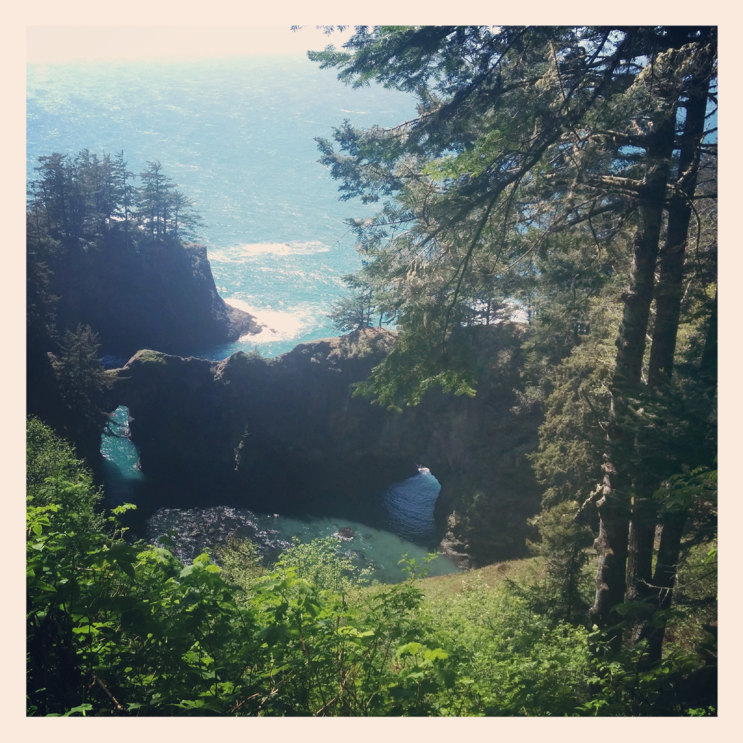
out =
<path fill-rule="evenodd" d="M 429 390 L 401 414 L 351 396 L 395 339 L 378 328 L 275 359 L 139 351 L 111 372 L 112 405 L 129 407 L 143 472 L 181 507 L 229 501 L 374 524 L 383 489 L 429 467 L 441 482 L 442 548 L 482 565 L 524 554 L 526 519 L 539 507 L 524 455 L 541 415 L 519 412 L 512 392 L 521 335 L 516 324 L 477 328 L 476 397 Z"/>

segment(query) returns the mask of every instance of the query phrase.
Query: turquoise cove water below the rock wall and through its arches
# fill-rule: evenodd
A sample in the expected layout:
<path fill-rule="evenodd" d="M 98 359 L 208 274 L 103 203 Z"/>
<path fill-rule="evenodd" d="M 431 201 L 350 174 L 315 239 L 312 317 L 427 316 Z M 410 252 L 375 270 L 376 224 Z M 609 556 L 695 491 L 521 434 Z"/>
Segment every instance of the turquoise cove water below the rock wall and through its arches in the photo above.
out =
<path fill-rule="evenodd" d="M 212 548 L 230 534 L 253 539 L 267 565 L 292 545 L 292 539 L 336 536 L 347 553 L 354 553 L 363 565 L 374 569 L 380 583 L 398 583 L 403 574 L 398 562 L 403 554 L 420 562 L 437 545 L 434 507 L 441 485 L 426 467 L 418 474 L 391 484 L 383 493 L 383 528 L 348 518 L 327 516 L 284 516 L 256 513 L 228 505 L 179 508 L 161 506 L 152 510 L 152 484 L 138 465 L 139 452 L 129 438 L 129 411 L 119 406 L 111 415 L 110 432 L 101 437 L 103 477 L 109 505 L 131 502 L 140 511 L 132 524 L 135 536 L 157 542 L 175 531 L 175 554 L 190 561 L 204 548 Z M 209 498 L 218 502 L 218 495 Z M 428 565 L 429 575 L 458 571 L 451 559 L 439 555 Z"/>

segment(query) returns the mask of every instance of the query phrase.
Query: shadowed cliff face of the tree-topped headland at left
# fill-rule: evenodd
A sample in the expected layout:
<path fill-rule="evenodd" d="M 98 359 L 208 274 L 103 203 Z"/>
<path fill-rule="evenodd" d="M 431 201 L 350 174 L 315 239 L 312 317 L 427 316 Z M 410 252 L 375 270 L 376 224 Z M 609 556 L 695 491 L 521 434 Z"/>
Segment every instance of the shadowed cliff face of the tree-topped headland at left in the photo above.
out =
<path fill-rule="evenodd" d="M 53 272 L 58 328 L 91 325 L 104 353 L 168 353 L 229 343 L 258 331 L 217 293 L 207 248 L 175 242 L 90 247 Z"/>

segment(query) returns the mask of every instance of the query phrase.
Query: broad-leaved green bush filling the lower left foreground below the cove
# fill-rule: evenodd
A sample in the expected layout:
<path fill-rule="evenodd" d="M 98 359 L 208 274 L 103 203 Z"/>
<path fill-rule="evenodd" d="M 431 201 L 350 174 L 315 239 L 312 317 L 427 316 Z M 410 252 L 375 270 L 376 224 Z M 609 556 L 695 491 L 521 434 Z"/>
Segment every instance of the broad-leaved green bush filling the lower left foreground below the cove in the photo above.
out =
<path fill-rule="evenodd" d="M 53 531 L 56 504 L 28 512 L 30 714 L 426 714 L 447 683 L 447 654 L 409 621 L 412 580 L 364 611 L 298 577 L 256 580 L 236 600 L 206 554 L 181 568 L 114 531 L 82 554 Z M 61 682 L 61 683 L 60 683 Z"/>

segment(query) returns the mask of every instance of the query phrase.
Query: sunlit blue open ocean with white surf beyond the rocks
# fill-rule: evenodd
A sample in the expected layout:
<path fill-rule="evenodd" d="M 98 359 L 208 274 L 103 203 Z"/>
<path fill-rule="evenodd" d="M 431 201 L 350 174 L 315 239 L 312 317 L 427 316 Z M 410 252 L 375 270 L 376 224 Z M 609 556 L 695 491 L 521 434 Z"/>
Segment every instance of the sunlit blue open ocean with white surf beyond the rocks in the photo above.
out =
<path fill-rule="evenodd" d="M 211 358 L 273 356 L 337 334 L 326 317 L 360 265 L 344 219 L 373 206 L 338 200 L 314 137 L 345 118 L 392 126 L 409 94 L 352 90 L 305 56 L 27 68 L 27 172 L 40 155 L 123 149 L 129 169 L 160 160 L 196 203 L 221 296 L 267 327 Z"/>

